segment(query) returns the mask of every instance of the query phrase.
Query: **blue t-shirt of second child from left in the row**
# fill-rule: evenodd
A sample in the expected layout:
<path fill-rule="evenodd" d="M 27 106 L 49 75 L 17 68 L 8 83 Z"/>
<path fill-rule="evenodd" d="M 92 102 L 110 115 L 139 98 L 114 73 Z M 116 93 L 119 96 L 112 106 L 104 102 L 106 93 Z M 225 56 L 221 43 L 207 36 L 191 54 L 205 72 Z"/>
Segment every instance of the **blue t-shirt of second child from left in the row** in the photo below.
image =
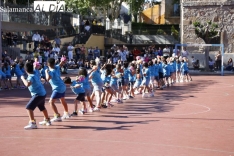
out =
<path fill-rule="evenodd" d="M 54 69 L 49 71 L 49 75 L 51 76 L 49 83 L 52 87 L 52 90 L 59 93 L 64 93 L 66 91 L 66 85 L 60 77 L 60 68 L 55 66 Z"/>

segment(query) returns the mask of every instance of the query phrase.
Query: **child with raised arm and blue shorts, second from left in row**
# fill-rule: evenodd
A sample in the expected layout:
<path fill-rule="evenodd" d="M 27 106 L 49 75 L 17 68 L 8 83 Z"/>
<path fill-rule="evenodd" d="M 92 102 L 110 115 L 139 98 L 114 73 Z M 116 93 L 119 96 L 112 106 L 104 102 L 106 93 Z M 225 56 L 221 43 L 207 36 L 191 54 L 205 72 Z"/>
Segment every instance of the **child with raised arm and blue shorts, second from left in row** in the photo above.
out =
<path fill-rule="evenodd" d="M 61 59 L 62 60 L 62 59 Z M 49 69 L 45 70 L 46 80 L 50 83 L 52 87 L 52 94 L 49 100 L 50 106 L 54 111 L 54 118 L 51 119 L 52 122 L 62 121 L 62 119 L 70 118 L 68 113 L 68 106 L 65 100 L 66 85 L 60 77 L 60 67 L 64 65 L 64 59 L 59 65 L 55 65 L 55 59 L 49 58 L 47 61 Z M 55 101 L 59 99 L 64 108 L 64 114 L 61 117 L 58 113 Z"/>

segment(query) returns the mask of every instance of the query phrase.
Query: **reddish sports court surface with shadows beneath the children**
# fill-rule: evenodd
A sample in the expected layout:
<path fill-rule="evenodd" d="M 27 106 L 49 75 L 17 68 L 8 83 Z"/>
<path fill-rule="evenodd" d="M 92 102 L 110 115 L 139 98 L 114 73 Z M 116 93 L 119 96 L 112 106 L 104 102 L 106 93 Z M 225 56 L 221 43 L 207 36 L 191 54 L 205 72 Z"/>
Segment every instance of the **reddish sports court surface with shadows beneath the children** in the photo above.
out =
<path fill-rule="evenodd" d="M 157 91 L 154 98 L 137 96 L 98 113 L 27 131 L 28 90 L 1 91 L 0 156 L 234 155 L 233 78 L 194 76 L 193 82 Z M 50 95 L 50 86 L 46 89 Z M 68 90 L 70 111 L 73 98 Z M 42 120 L 38 110 L 35 114 Z"/>

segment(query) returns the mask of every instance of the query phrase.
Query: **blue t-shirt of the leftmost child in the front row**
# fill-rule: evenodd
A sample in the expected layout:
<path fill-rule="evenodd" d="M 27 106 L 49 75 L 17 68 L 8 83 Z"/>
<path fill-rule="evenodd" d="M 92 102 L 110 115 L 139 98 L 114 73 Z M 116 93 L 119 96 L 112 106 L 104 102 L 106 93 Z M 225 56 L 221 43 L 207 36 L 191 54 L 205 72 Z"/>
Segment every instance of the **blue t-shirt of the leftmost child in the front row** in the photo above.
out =
<path fill-rule="evenodd" d="M 34 95 L 45 96 L 46 95 L 45 88 L 36 75 L 29 74 L 27 81 L 31 82 L 31 85 L 28 87 L 28 90 L 30 91 L 32 96 Z"/>

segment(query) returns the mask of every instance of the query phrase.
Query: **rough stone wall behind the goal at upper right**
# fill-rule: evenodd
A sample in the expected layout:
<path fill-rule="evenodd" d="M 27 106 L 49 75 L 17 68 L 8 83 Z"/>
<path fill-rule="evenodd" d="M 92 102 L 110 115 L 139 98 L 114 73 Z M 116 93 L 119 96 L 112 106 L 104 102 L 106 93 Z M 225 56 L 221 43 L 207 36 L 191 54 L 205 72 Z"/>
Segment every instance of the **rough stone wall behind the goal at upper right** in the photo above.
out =
<path fill-rule="evenodd" d="M 193 22 L 212 20 L 223 28 L 225 53 L 234 53 L 234 0 L 184 0 L 183 43 L 203 43 L 196 37 Z"/>

